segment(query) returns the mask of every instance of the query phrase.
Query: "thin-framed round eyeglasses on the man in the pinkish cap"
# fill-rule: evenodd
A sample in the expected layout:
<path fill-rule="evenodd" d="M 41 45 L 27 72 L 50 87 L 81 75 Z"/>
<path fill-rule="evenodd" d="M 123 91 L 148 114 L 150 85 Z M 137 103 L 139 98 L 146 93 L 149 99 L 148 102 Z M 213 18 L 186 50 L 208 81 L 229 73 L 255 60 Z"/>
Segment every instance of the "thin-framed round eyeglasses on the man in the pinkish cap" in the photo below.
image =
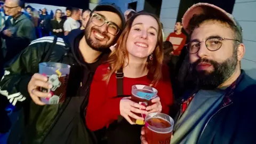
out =
<path fill-rule="evenodd" d="M 222 41 L 224 40 L 231 40 L 231 41 L 237 41 L 239 42 L 237 39 L 229 39 L 229 38 L 222 38 L 222 37 L 209 37 L 206 39 L 206 41 L 202 41 L 205 42 L 205 46 L 209 51 L 217 51 L 220 49 L 221 45 L 222 45 Z M 190 54 L 194 54 L 197 53 L 200 49 L 200 45 L 202 42 L 198 42 L 197 40 L 193 40 L 188 42 L 187 44 L 187 50 Z M 239 42 L 240 43 L 240 42 Z"/>

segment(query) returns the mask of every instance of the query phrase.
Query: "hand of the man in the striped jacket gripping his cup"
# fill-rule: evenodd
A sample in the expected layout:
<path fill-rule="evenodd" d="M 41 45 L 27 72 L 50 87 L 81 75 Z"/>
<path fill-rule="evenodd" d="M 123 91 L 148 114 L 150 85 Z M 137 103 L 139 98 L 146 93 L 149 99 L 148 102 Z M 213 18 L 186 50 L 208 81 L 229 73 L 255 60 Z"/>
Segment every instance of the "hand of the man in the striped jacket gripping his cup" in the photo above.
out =
<path fill-rule="evenodd" d="M 30 82 L 28 83 L 28 93 L 31 97 L 31 99 L 37 104 L 37 105 L 45 105 L 44 102 L 40 100 L 40 98 L 50 98 L 52 97 L 51 93 L 41 92 L 38 91 L 38 87 L 43 87 L 45 89 L 51 89 L 52 85 L 50 83 L 47 83 L 48 78 L 41 74 L 34 74 L 32 78 L 30 79 Z"/>

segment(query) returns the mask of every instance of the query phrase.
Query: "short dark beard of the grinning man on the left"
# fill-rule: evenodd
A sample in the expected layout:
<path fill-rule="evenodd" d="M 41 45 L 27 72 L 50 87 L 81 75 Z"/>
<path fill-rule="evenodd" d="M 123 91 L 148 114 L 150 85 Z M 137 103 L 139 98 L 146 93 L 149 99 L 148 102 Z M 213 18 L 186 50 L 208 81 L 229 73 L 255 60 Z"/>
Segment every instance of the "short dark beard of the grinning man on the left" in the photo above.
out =
<path fill-rule="evenodd" d="M 98 29 L 95 29 L 93 27 L 90 28 L 90 23 L 91 22 L 87 23 L 87 25 L 85 27 L 85 31 L 84 31 L 86 43 L 95 51 L 100 51 L 100 52 L 110 51 L 109 47 L 111 45 L 113 45 L 112 43 L 110 43 L 109 45 L 102 45 L 102 44 L 98 43 L 97 41 L 93 41 L 93 39 L 90 38 L 92 30 L 96 30 L 96 31 L 100 32 Z M 106 34 L 102 34 L 102 35 L 105 37 L 108 37 Z"/>

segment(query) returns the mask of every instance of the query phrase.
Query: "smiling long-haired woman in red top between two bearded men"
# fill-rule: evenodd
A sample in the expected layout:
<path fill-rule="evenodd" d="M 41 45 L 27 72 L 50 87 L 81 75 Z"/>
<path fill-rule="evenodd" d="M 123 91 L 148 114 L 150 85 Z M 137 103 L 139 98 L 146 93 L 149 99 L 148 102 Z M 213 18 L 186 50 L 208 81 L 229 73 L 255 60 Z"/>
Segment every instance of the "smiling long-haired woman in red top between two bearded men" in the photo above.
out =
<path fill-rule="evenodd" d="M 134 124 L 130 117 L 143 119 L 134 113 L 162 111 L 168 114 L 173 103 L 173 94 L 169 73 L 167 68 L 162 68 L 162 63 L 161 24 L 155 15 L 139 12 L 127 21 L 116 50 L 110 54 L 108 62 L 95 71 L 85 119 L 87 127 L 92 131 L 108 127 L 117 120 L 118 115 Z M 124 95 L 131 95 L 132 85 L 135 84 L 153 86 L 158 90 L 159 96 L 152 100 L 154 105 L 146 108 L 130 98 L 117 97 L 115 74 L 120 68 L 123 68 L 124 73 Z M 141 110 L 145 108 L 146 110 Z"/>

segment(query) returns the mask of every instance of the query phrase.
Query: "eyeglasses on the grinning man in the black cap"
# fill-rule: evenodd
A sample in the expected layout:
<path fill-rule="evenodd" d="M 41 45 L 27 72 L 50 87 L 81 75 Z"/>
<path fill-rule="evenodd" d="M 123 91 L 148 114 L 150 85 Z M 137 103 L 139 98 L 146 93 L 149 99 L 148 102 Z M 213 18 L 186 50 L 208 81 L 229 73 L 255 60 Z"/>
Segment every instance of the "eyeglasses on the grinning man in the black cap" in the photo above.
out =
<path fill-rule="evenodd" d="M 109 22 L 109 21 L 105 20 L 105 18 L 103 18 L 101 15 L 99 15 L 97 13 L 93 13 L 91 15 L 91 17 L 92 17 L 91 20 L 94 23 L 94 25 L 97 25 L 99 27 L 101 27 L 105 23 L 107 23 L 107 30 L 108 30 L 109 34 L 117 35 L 119 33 L 120 29 L 118 28 L 116 23 Z"/>

